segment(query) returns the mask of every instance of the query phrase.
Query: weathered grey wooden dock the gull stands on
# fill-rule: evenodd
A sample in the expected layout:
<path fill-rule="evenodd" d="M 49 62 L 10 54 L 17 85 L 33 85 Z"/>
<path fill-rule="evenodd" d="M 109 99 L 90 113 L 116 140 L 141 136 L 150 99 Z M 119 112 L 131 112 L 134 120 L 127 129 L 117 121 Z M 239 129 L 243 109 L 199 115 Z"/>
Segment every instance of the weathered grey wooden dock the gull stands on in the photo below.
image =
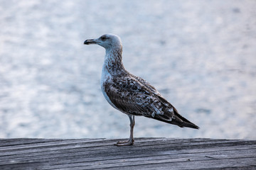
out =
<path fill-rule="evenodd" d="M 0 169 L 256 169 L 256 140 L 1 139 Z"/>

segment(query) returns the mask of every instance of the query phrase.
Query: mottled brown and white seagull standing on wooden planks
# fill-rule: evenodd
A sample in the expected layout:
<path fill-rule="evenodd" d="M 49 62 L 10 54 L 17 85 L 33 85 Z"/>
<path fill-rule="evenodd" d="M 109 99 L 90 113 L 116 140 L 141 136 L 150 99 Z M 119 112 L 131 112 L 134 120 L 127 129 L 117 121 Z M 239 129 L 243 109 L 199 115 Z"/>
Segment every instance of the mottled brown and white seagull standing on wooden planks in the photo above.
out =
<path fill-rule="evenodd" d="M 116 146 L 134 144 L 133 130 L 135 115 L 143 115 L 165 123 L 199 129 L 183 118 L 146 80 L 129 73 L 122 63 L 122 41 L 118 35 L 105 34 L 100 38 L 85 40 L 85 45 L 96 44 L 105 48 L 105 60 L 102 67 L 101 89 L 106 100 L 118 111 L 129 116 L 130 136 L 127 141 L 119 141 Z"/>

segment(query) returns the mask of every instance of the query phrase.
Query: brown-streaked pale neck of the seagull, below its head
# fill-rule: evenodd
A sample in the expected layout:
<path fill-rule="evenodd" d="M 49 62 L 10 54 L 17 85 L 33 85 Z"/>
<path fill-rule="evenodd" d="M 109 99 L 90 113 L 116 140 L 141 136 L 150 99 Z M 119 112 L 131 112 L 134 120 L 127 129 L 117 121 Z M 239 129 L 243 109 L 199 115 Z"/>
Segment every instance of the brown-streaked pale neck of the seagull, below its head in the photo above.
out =
<path fill-rule="evenodd" d="M 122 64 L 122 47 L 106 49 L 103 67 L 105 67 L 104 69 L 107 69 L 107 72 L 110 74 L 125 70 L 124 65 Z"/>

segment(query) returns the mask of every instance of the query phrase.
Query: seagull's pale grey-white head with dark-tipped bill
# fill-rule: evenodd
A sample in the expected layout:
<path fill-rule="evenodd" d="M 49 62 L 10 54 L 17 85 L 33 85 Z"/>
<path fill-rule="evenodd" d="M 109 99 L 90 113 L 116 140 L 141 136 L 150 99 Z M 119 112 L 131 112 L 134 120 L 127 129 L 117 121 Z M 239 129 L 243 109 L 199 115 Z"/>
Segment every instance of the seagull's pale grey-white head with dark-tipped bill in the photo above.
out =
<path fill-rule="evenodd" d="M 122 48 L 122 41 L 119 38 L 119 36 L 110 33 L 102 35 L 100 36 L 100 38 L 85 40 L 84 44 L 97 44 L 102 47 L 105 47 L 106 50 L 114 47 Z"/>

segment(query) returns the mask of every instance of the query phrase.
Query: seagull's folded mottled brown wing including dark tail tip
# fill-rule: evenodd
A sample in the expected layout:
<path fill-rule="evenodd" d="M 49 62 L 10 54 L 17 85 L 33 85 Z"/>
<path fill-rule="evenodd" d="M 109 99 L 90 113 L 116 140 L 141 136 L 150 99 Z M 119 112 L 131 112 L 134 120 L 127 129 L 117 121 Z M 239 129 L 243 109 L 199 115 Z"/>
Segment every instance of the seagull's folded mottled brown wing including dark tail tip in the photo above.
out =
<path fill-rule="evenodd" d="M 144 115 L 180 127 L 198 128 L 183 118 L 174 106 L 147 81 L 138 77 L 114 77 L 105 81 L 105 92 L 123 113 Z"/>

